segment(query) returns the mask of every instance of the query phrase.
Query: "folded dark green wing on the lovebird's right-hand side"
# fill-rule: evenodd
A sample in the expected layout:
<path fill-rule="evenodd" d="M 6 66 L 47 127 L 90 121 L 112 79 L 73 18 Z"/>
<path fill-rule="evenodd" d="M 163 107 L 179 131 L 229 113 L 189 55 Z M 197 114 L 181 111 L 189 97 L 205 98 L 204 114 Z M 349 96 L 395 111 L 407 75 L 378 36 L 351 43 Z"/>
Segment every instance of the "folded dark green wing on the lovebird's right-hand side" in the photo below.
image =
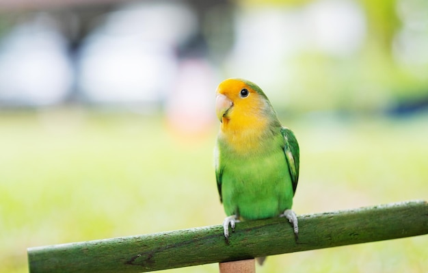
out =
<path fill-rule="evenodd" d="M 291 182 L 293 183 L 293 194 L 297 189 L 297 181 L 299 180 L 299 144 L 296 137 L 289 128 L 281 128 L 282 136 L 284 137 L 284 153 L 286 161 L 289 165 Z"/>

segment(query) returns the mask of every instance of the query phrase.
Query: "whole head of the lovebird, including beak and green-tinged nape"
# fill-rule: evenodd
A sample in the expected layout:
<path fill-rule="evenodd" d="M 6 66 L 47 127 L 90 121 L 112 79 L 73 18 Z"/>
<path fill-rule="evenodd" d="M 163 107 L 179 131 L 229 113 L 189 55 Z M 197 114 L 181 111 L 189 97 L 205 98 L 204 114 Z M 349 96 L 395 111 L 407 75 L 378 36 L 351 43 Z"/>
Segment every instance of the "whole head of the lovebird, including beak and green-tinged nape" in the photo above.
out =
<path fill-rule="evenodd" d="M 251 81 L 226 79 L 216 90 L 215 112 L 220 122 L 250 122 L 273 109 L 265 93 Z"/>

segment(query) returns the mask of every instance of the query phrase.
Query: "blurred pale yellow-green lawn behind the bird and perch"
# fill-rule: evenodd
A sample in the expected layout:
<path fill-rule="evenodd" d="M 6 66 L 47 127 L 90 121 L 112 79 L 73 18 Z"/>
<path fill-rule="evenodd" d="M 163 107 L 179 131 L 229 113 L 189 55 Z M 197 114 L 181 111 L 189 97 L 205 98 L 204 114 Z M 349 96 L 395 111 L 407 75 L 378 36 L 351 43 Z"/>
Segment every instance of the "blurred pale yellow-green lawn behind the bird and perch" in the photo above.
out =
<path fill-rule="evenodd" d="M 301 146 L 297 213 L 428 199 L 428 116 L 283 121 Z M 27 272 L 32 246 L 221 223 L 216 131 L 185 138 L 162 116 L 83 109 L 1 113 L 0 272 Z M 427 246 L 425 235 L 277 255 L 258 272 L 427 272 Z"/>

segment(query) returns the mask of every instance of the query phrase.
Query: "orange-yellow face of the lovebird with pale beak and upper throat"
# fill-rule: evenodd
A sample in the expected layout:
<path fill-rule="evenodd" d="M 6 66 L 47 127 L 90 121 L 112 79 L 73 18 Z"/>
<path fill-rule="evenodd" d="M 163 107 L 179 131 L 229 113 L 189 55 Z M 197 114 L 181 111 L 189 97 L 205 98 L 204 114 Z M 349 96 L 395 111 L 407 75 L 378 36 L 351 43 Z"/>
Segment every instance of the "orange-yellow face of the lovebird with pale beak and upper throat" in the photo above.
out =
<path fill-rule="evenodd" d="M 226 79 L 217 87 L 215 109 L 222 128 L 260 129 L 265 125 L 266 99 L 239 79 Z"/>

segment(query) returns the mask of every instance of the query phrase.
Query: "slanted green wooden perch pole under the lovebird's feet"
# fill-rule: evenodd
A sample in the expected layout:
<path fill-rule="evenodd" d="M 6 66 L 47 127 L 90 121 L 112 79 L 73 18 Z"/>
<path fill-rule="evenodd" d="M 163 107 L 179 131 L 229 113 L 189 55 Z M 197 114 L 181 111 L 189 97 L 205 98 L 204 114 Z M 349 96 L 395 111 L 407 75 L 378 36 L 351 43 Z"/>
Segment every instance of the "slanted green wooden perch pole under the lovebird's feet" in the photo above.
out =
<path fill-rule="evenodd" d="M 428 205 L 409 201 L 299 216 L 299 240 L 286 219 L 241 222 L 225 243 L 222 226 L 28 249 L 29 271 L 147 272 L 330 248 L 428 233 Z"/>

